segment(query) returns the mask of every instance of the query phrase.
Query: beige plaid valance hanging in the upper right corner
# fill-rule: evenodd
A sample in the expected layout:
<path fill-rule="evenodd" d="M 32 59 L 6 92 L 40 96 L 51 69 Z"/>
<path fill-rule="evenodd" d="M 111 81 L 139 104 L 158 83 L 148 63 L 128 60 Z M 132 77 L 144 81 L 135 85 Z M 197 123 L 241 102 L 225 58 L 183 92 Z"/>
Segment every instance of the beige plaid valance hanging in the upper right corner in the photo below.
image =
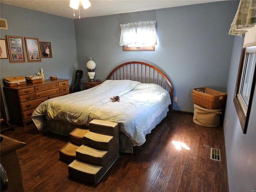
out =
<path fill-rule="evenodd" d="M 240 35 L 256 25 L 256 0 L 240 0 L 228 34 Z"/>

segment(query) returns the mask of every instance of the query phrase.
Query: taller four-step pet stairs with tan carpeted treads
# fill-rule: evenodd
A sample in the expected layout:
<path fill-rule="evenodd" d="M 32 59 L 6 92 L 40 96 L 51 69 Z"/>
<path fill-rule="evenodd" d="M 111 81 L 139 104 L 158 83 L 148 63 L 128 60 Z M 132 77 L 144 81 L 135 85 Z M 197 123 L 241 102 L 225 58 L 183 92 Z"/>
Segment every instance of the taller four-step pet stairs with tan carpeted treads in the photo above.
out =
<path fill-rule="evenodd" d="M 119 157 L 118 124 L 92 120 L 89 131 L 76 149 L 68 174 L 78 180 L 98 183 Z"/>

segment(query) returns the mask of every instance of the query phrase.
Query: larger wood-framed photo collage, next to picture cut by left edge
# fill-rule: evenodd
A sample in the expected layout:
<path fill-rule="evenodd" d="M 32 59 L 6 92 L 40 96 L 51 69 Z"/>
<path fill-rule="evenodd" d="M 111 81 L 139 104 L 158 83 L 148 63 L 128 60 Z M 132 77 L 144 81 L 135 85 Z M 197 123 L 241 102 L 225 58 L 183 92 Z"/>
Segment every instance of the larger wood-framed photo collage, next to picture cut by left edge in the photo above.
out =
<path fill-rule="evenodd" d="M 22 37 L 6 36 L 9 52 L 9 60 L 11 63 L 26 62 L 24 56 L 24 41 Z"/>

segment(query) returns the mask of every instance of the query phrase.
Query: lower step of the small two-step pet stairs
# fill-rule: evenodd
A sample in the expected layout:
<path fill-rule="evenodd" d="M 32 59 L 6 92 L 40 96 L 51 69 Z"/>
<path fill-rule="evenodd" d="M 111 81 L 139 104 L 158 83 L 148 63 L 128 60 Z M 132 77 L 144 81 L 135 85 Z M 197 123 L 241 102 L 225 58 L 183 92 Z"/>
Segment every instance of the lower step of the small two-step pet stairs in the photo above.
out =
<path fill-rule="evenodd" d="M 76 159 L 76 150 L 79 148 L 79 145 L 72 144 L 68 142 L 63 146 L 60 151 L 60 160 L 70 163 Z"/>

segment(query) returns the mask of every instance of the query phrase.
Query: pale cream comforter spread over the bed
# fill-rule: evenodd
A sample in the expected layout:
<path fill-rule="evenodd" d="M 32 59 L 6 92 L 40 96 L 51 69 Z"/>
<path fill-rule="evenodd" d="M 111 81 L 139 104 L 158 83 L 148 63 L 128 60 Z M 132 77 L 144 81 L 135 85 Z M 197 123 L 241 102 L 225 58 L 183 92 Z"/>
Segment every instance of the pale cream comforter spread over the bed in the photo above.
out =
<path fill-rule="evenodd" d="M 120 96 L 120 102 L 111 102 L 113 96 Z M 140 146 L 151 132 L 152 122 L 169 104 L 170 94 L 159 85 L 106 80 L 94 88 L 46 100 L 33 112 L 32 120 L 42 131 L 49 131 L 46 118 L 78 125 L 92 119 L 116 122 Z"/>

